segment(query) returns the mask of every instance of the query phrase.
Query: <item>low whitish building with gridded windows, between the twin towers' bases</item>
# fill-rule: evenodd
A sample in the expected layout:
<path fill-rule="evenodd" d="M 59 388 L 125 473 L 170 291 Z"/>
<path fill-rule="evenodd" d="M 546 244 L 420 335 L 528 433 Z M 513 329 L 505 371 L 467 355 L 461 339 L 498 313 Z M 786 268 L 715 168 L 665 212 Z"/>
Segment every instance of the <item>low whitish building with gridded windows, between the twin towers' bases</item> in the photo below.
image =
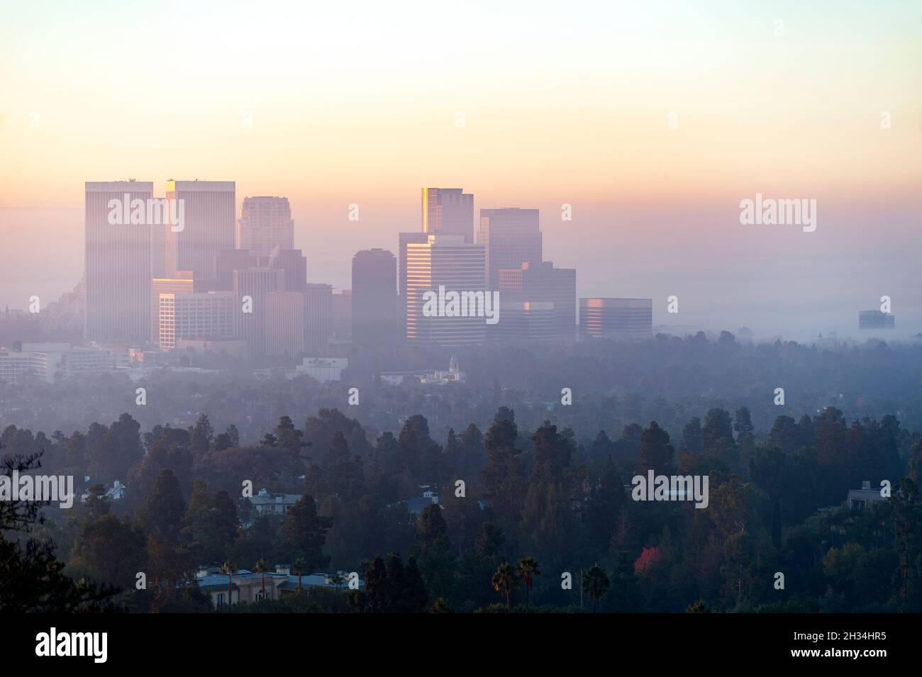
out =
<path fill-rule="evenodd" d="M 234 335 L 237 304 L 231 291 L 160 294 L 160 347 L 181 340 L 227 341 Z"/>

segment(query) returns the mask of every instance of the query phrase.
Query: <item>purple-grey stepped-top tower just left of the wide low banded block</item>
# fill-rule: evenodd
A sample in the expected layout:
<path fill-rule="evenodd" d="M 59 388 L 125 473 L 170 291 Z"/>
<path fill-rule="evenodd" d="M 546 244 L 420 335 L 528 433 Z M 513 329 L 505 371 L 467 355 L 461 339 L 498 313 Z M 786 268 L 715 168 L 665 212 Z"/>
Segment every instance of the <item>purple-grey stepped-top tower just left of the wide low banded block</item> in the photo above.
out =
<path fill-rule="evenodd" d="M 550 301 L 554 304 L 553 338 L 566 341 L 576 338 L 575 268 L 555 268 L 550 261 L 502 268 L 499 289 L 503 301 Z"/>

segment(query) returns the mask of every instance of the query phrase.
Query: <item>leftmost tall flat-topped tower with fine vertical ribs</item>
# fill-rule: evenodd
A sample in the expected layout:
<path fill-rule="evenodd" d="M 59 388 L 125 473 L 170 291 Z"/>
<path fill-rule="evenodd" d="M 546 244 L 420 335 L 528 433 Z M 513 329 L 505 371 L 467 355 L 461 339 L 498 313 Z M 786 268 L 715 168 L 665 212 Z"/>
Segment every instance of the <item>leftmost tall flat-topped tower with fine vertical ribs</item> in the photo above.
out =
<path fill-rule="evenodd" d="M 153 197 L 152 181 L 87 181 L 84 203 L 89 341 L 150 340 L 151 228 L 130 217 L 109 221 L 110 201 L 129 204 Z M 147 213 L 147 209 L 145 209 Z M 143 219 L 142 219 L 143 220 Z"/>

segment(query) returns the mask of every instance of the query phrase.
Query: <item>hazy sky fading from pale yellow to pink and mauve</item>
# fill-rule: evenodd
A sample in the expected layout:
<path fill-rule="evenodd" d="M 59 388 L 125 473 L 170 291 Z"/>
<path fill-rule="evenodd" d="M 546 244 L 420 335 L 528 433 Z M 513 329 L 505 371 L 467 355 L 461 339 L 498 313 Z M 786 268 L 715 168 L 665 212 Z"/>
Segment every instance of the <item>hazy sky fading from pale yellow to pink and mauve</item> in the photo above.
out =
<path fill-rule="evenodd" d="M 652 297 L 655 323 L 799 339 L 886 294 L 922 331 L 919 0 L 31 0 L 0 83 L 11 307 L 79 279 L 84 181 L 197 178 L 287 195 L 337 287 L 420 228 L 421 186 L 463 187 L 540 208 L 579 295 Z M 816 199 L 816 231 L 740 225 L 755 193 Z"/>

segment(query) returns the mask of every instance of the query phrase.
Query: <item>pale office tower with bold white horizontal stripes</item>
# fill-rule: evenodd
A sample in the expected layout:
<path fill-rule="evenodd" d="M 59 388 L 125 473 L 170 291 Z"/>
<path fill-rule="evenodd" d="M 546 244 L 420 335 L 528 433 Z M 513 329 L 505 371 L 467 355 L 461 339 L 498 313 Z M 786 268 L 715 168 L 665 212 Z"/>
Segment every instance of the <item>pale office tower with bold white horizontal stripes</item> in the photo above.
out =
<path fill-rule="evenodd" d="M 487 326 L 484 315 L 449 315 L 443 312 L 441 302 L 437 312 L 427 315 L 424 296 L 427 291 L 439 294 L 443 287 L 446 293 L 460 296 L 480 292 L 482 297 L 485 273 L 483 245 L 465 242 L 459 235 L 430 235 L 424 243 L 408 243 L 407 293 L 403 298 L 407 340 L 437 345 L 483 343 Z"/>

